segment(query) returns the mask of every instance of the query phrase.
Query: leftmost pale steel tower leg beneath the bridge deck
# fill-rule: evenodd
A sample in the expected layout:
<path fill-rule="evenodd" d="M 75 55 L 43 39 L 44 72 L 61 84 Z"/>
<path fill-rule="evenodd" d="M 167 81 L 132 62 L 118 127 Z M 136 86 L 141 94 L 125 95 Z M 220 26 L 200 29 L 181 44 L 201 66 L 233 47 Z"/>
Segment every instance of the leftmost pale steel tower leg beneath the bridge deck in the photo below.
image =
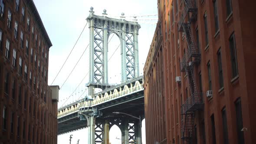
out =
<path fill-rule="evenodd" d="M 86 119 L 88 126 L 88 144 L 95 144 L 95 123 L 93 113 L 89 114 Z"/>

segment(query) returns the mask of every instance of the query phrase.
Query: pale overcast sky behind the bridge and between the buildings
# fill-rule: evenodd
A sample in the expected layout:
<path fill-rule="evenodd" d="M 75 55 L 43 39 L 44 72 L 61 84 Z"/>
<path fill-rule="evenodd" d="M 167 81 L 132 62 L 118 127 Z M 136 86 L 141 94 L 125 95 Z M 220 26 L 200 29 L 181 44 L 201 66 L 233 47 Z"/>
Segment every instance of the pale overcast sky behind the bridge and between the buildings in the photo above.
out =
<path fill-rule="evenodd" d="M 158 13 L 157 0 L 34 0 L 34 3 L 36 4 L 36 8 L 41 16 L 49 38 L 53 43 L 49 51 L 49 85 L 52 84 L 53 79 L 66 60 L 79 34 L 82 32 L 86 24 L 86 17 L 89 16 L 90 7 L 94 7 L 95 14 L 97 15 L 101 15 L 103 10 L 106 9 L 109 17 L 120 16 L 122 12 L 125 13 L 125 16 L 143 16 Z M 157 16 L 143 16 L 137 17 L 137 19 L 139 19 L 138 23 L 141 24 L 138 44 L 140 74 L 142 75 L 148 49 L 154 35 L 155 23 L 157 22 L 157 20 L 154 19 L 157 19 Z M 110 37 L 112 37 L 112 35 Z M 53 82 L 53 85 L 59 85 L 60 87 L 63 85 L 88 44 L 89 28 L 87 25 L 72 54 L 62 68 L 62 71 Z M 109 59 L 109 83 L 120 83 L 121 80 L 121 49 L 120 47 L 118 48 L 119 44 L 120 42 L 117 36 L 113 36 L 108 44 L 108 58 L 110 58 L 115 52 L 115 49 L 117 49 L 112 58 Z M 61 87 L 59 91 L 58 107 L 76 101 L 82 93 L 85 92 L 85 83 L 89 80 L 89 74 L 86 75 L 89 71 L 88 54 L 89 47 L 85 50 L 85 54 L 82 55 L 82 59 L 79 61 L 69 79 L 67 79 L 65 84 Z M 85 80 L 79 85 L 84 77 Z M 79 87 L 75 90 L 78 85 Z M 74 93 L 72 94 L 72 92 Z M 142 127 L 144 129 L 144 121 Z M 87 129 L 58 136 L 58 144 L 69 144 L 70 134 L 73 134 L 72 144 L 76 144 L 78 139 L 80 139 L 79 144 L 87 144 Z M 121 140 L 115 139 L 116 137 L 121 138 L 121 131 L 118 128 L 112 127 L 110 130 L 110 142 L 112 142 L 112 144 L 121 144 Z M 144 140 L 143 143 L 145 144 Z"/>

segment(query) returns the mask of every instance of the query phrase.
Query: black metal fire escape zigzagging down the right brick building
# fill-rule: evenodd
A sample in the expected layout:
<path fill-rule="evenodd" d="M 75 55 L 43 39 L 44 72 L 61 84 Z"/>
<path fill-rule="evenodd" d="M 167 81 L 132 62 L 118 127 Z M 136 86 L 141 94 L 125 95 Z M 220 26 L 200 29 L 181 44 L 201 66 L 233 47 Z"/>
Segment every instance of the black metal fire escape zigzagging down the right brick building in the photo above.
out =
<path fill-rule="evenodd" d="M 195 43 L 191 33 L 190 24 L 197 20 L 197 6 L 195 0 L 184 0 L 185 7 L 178 23 L 178 30 L 183 32 L 187 39 L 187 52 L 181 59 L 181 71 L 186 72 L 190 87 L 190 97 L 181 106 L 181 138 L 183 141 L 192 143 L 194 130 L 195 111 L 203 108 L 202 94 L 197 91 L 197 85 L 194 78 L 194 65 L 200 62 L 200 51 Z M 187 17 L 187 19 L 186 19 Z"/>

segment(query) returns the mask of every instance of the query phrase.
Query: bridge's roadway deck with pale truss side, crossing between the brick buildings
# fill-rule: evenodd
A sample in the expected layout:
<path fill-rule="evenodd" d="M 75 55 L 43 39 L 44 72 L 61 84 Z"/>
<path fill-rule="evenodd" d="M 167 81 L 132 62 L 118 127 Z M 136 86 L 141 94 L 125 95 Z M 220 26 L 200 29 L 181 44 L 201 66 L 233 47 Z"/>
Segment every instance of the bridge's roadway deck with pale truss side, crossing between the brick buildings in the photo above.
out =
<path fill-rule="evenodd" d="M 128 87 L 128 85 L 130 87 Z M 117 89 L 119 92 L 117 93 Z M 76 101 L 71 105 L 58 110 L 58 135 L 71 131 L 77 131 L 87 127 L 87 121 L 81 121 L 78 117 L 79 108 L 88 108 L 85 101 Z M 139 77 L 129 82 L 117 85 L 112 89 L 105 90 L 95 95 L 92 107 L 97 108 L 102 113 L 96 118 L 97 121 L 106 119 L 128 118 L 125 115 L 116 115 L 112 112 L 118 111 L 134 116 L 144 115 L 144 88 L 143 79 Z"/>

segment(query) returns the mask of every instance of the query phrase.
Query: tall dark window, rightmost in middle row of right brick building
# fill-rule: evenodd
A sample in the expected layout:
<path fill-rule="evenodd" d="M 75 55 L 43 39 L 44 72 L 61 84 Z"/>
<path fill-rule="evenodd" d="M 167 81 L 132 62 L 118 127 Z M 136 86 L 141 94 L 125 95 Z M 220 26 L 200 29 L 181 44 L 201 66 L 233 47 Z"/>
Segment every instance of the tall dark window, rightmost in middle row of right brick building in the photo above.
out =
<path fill-rule="evenodd" d="M 234 33 L 230 36 L 229 43 L 230 43 L 230 56 L 231 56 L 231 66 L 232 66 L 232 78 L 234 78 L 238 75 L 236 40 L 235 40 Z"/>

